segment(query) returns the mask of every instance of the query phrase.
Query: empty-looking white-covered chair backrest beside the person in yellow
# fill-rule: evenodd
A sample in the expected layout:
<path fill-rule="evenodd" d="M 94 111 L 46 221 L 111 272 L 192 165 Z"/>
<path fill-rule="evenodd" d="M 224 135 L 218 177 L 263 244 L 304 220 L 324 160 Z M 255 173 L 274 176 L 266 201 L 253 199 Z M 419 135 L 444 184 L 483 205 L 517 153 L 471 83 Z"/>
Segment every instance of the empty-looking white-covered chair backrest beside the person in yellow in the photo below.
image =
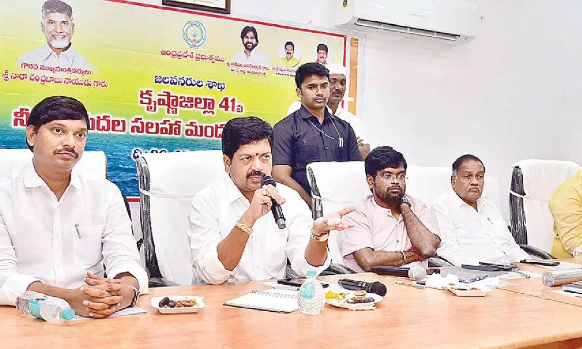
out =
<path fill-rule="evenodd" d="M 510 216 L 517 243 L 550 252 L 555 234 L 549 198 L 580 165 L 572 161 L 524 159 L 512 165 Z"/>

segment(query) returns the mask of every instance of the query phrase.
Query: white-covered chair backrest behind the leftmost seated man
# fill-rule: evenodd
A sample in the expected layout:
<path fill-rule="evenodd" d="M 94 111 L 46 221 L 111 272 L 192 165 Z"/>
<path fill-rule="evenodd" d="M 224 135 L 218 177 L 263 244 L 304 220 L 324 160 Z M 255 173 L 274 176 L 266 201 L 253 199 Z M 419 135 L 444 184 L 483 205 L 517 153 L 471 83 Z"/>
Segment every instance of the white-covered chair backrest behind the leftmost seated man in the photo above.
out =
<path fill-rule="evenodd" d="M 33 152 L 29 148 L 24 149 L 0 149 L 0 177 L 8 175 L 33 158 Z M 85 151 L 81 159 L 75 165 L 79 171 L 87 171 L 107 178 L 107 157 L 102 151 Z"/>

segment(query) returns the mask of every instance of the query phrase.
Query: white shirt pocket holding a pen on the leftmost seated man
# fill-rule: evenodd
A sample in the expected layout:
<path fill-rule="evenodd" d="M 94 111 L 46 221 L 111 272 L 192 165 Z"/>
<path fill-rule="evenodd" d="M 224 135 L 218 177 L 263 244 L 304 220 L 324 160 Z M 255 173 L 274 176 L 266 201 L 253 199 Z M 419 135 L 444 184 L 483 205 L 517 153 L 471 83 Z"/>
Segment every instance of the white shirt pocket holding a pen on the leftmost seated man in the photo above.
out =
<path fill-rule="evenodd" d="M 105 225 L 78 227 L 74 232 L 74 261 L 78 265 L 91 267 L 101 262 L 102 240 Z M 79 237 L 80 236 L 80 237 Z"/>

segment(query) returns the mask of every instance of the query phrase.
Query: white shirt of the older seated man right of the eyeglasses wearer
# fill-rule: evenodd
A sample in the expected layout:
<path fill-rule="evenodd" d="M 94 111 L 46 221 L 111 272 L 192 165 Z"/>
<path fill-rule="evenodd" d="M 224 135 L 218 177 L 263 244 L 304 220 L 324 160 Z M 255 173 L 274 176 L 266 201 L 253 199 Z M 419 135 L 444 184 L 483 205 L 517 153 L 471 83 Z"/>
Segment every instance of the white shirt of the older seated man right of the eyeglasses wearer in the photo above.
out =
<path fill-rule="evenodd" d="M 437 253 L 454 265 L 511 263 L 529 258 L 515 243 L 491 201 L 478 199 L 475 210 L 450 190 L 432 204 L 431 213 L 442 239 Z"/>

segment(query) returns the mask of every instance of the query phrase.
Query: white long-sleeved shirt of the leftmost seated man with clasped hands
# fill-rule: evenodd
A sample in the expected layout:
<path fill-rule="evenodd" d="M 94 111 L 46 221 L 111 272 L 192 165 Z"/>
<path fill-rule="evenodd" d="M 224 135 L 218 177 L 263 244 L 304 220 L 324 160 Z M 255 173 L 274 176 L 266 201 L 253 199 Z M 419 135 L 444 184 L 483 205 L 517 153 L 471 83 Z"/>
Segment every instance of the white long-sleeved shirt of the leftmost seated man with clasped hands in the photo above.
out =
<path fill-rule="evenodd" d="M 2 177 L 0 304 L 15 304 L 35 281 L 65 289 L 83 286 L 87 271 L 111 278 L 131 273 L 140 292 L 147 293 L 148 276 L 118 187 L 73 168 L 69 186 L 56 200 L 32 161 Z"/>

